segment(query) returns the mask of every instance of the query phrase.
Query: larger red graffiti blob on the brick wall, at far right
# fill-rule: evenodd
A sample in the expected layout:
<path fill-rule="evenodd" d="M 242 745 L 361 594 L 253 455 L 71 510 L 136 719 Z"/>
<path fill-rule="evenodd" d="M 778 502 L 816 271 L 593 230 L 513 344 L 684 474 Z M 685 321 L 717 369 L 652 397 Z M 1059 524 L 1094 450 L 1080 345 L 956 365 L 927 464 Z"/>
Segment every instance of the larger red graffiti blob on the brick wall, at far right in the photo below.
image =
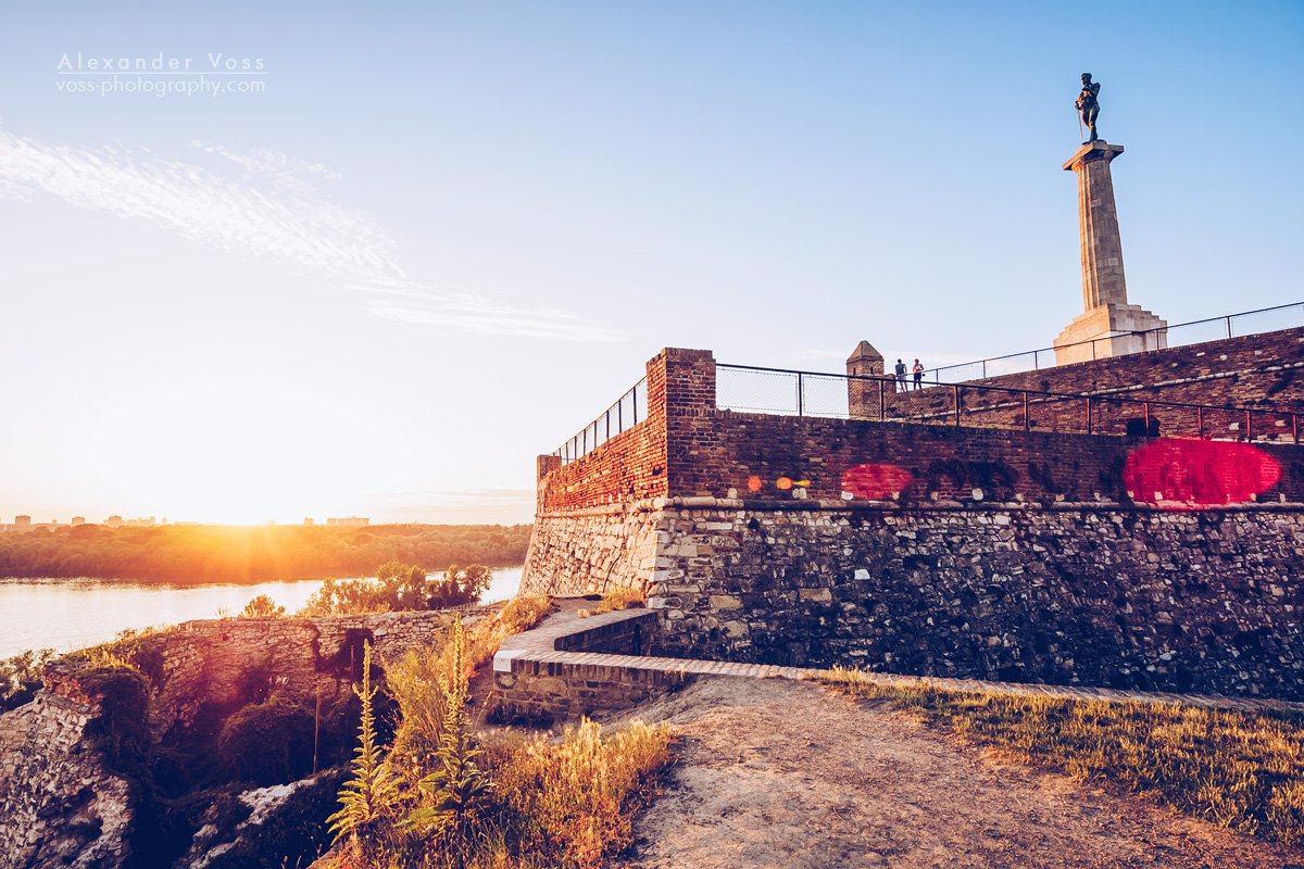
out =
<path fill-rule="evenodd" d="M 1128 455 L 1123 483 L 1140 504 L 1170 509 L 1226 507 L 1253 500 L 1282 477 L 1262 449 L 1228 440 L 1166 438 Z"/>

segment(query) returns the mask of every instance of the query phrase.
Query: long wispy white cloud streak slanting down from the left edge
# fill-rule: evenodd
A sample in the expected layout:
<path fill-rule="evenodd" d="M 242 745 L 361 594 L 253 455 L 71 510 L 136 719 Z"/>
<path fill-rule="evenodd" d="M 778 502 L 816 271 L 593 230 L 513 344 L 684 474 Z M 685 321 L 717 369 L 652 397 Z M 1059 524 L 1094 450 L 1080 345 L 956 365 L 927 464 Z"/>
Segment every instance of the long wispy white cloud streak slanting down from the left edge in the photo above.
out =
<path fill-rule="evenodd" d="M 567 311 L 512 305 L 409 280 L 398 242 L 372 218 L 326 195 L 338 172 L 266 149 L 193 142 L 241 167 L 239 177 L 149 149 L 46 145 L 0 130 L 0 198 L 50 194 L 80 208 L 143 220 L 205 248 L 265 258 L 365 291 L 387 319 L 472 332 L 570 341 L 621 335 Z"/>

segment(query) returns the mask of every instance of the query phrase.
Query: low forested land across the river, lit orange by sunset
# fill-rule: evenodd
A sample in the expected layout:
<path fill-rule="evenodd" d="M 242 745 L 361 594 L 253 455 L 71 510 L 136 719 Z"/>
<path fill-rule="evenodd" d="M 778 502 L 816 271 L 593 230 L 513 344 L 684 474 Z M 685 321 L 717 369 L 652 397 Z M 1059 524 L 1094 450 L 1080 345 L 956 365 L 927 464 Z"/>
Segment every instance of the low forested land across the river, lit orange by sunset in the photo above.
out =
<path fill-rule="evenodd" d="M 428 571 L 526 560 L 531 525 L 163 525 L 0 534 L 0 577 L 266 582 L 369 575 L 403 562 Z"/>

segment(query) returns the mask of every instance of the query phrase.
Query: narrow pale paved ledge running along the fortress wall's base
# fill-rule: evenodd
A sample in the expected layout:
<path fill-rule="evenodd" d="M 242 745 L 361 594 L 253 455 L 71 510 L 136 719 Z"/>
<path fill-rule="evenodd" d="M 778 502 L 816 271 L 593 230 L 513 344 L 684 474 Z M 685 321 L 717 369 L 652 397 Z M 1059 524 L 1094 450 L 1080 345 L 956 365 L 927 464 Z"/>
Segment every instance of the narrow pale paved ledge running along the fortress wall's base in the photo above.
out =
<path fill-rule="evenodd" d="M 602 612 L 580 619 L 578 603 L 562 601 L 562 611 L 549 615 L 533 631 L 503 640 L 494 655 L 494 671 L 510 672 L 511 662 L 537 661 L 540 663 L 587 664 L 618 667 L 631 671 L 652 671 L 700 676 L 732 676 L 743 679 L 818 679 L 833 670 L 810 667 L 780 667 L 777 664 L 746 664 L 721 661 L 694 661 L 685 658 L 652 658 L 644 655 L 605 654 L 597 651 L 559 651 L 558 646 L 574 646 L 583 634 L 618 625 L 631 619 L 655 621 L 652 610 L 623 610 Z M 905 676 L 885 672 L 858 671 L 866 679 L 882 685 L 928 687 L 948 691 L 986 692 L 1025 697 L 1065 697 L 1074 700 L 1107 700 L 1115 702 L 1167 704 L 1202 709 L 1228 709 L 1237 711 L 1295 710 L 1304 711 L 1304 704 L 1282 700 L 1223 697 L 1221 694 L 1178 694 L 1168 692 L 1119 691 L 1084 685 L 1034 685 L 1020 683 L 985 681 L 978 679 L 945 679 L 940 676 Z M 632 675 L 632 674 L 631 674 Z"/>

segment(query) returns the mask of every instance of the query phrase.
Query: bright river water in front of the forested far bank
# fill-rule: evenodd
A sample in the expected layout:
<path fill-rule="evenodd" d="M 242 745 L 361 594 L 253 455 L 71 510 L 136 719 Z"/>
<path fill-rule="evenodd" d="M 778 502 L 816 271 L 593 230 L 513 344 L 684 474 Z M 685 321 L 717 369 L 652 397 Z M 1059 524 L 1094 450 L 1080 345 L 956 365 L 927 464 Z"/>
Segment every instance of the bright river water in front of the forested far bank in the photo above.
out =
<path fill-rule="evenodd" d="M 506 601 L 520 585 L 519 567 L 493 572 L 485 603 Z M 0 580 L 0 659 L 26 649 L 72 651 L 112 640 L 126 628 L 237 615 L 266 594 L 293 612 L 321 580 L 258 585 L 168 585 L 130 580 Z"/>

